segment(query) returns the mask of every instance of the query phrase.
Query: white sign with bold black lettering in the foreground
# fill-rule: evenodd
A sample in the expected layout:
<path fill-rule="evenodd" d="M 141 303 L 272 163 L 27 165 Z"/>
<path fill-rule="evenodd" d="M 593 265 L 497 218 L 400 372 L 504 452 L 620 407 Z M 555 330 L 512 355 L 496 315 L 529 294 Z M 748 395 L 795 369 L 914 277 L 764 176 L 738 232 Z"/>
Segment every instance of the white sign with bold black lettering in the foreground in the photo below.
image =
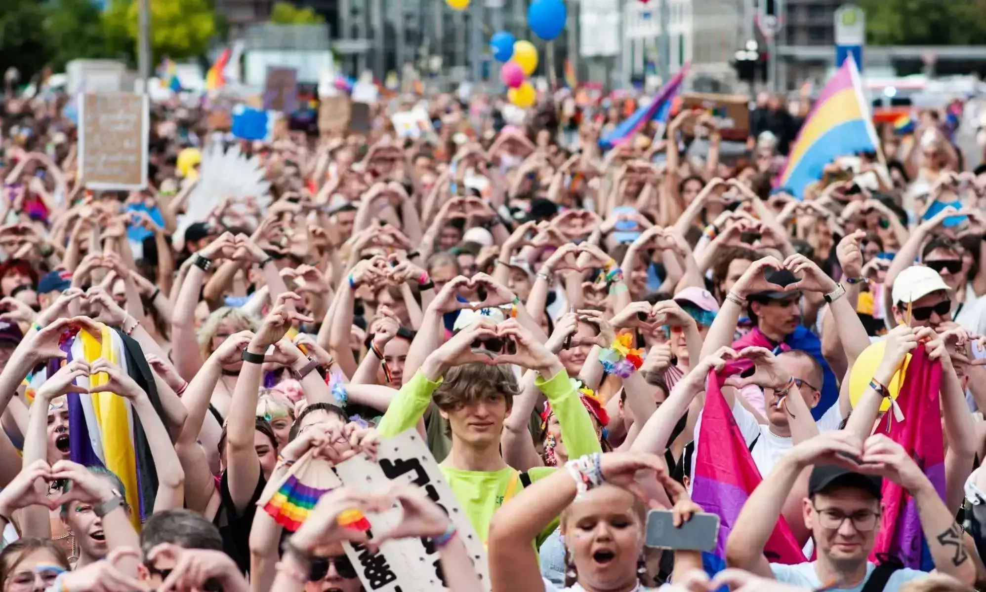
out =
<path fill-rule="evenodd" d="M 452 519 L 483 589 L 491 589 L 482 541 L 417 430 L 408 429 L 381 442 L 377 462 L 359 455 L 336 465 L 335 472 L 343 484 L 367 493 L 384 491 L 391 481 L 411 483 L 423 489 Z M 394 520 L 400 520 L 400 510 L 395 511 L 368 516 L 372 531 L 383 533 L 395 526 Z M 374 559 L 357 545 L 343 547 L 368 590 L 395 592 L 399 588 L 401 592 L 426 592 L 445 585 L 439 552 L 429 538 L 387 541 L 380 551 L 384 559 Z"/>

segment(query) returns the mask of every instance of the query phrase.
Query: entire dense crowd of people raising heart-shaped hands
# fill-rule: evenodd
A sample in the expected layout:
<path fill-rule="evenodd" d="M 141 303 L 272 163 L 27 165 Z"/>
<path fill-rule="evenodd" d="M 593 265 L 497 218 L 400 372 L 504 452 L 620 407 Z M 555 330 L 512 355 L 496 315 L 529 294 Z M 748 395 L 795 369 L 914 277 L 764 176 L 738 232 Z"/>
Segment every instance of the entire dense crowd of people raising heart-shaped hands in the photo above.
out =
<path fill-rule="evenodd" d="M 369 133 L 269 143 L 157 104 L 148 188 L 91 191 L 66 99 L 0 106 L 0 591 L 377 590 L 345 549 L 407 538 L 457 592 L 986 582 L 986 165 L 936 113 L 794 196 L 790 117 L 727 161 L 691 110 L 600 151 L 615 99 L 515 125 L 436 96 L 413 139 L 382 101 Z M 197 192 L 216 145 L 267 195 Z M 885 401 L 917 360 L 941 375 L 944 493 L 877 428 L 918 421 Z M 720 397 L 739 439 L 703 431 Z M 303 459 L 408 430 L 486 557 L 399 480 L 320 493 L 295 528 L 264 509 Z M 728 455 L 757 480 L 732 508 L 707 485 Z M 875 557 L 889 483 L 926 565 Z M 392 508 L 372 537 L 343 520 Z M 653 509 L 716 513 L 722 540 L 648 546 Z M 794 562 L 768 550 L 781 523 Z"/>

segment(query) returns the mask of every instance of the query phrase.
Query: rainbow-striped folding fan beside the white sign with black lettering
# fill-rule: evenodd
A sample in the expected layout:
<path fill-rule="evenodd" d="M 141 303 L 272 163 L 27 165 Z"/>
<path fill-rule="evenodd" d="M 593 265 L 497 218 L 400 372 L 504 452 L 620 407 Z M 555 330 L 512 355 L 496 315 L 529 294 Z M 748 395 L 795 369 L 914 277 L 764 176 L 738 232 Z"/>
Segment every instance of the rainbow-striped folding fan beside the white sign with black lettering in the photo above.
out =
<path fill-rule="evenodd" d="M 274 493 L 267 499 L 261 498 L 257 504 L 275 522 L 294 532 L 308 518 L 318 498 L 339 485 L 332 463 L 315 456 L 315 449 L 312 449 L 292 465 Z"/>

